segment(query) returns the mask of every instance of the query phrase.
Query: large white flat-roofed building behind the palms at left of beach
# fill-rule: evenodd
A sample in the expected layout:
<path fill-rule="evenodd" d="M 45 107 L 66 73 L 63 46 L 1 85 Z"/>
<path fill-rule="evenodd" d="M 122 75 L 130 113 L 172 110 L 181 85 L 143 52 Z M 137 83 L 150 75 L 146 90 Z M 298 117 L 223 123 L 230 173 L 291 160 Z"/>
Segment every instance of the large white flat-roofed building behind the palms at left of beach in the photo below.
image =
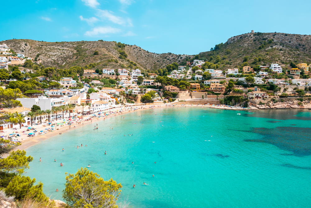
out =
<path fill-rule="evenodd" d="M 38 105 L 41 110 L 51 110 L 53 107 L 66 105 L 62 98 L 47 98 L 46 96 L 38 96 L 38 98 L 17 98 L 23 106 L 31 108 L 33 105 Z"/>

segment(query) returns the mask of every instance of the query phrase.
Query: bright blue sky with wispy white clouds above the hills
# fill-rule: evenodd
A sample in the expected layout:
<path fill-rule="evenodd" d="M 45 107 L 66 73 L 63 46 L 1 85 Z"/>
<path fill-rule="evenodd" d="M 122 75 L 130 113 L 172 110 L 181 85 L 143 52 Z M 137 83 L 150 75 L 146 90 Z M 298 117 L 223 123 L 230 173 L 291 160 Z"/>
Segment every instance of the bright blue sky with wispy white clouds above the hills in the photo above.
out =
<path fill-rule="evenodd" d="M 303 7 L 302 7 L 303 6 Z M 194 55 L 251 32 L 310 35 L 311 1 L 16 0 L 0 41 L 117 41 L 155 53 Z M 4 27 L 5 26 L 5 27 Z"/>

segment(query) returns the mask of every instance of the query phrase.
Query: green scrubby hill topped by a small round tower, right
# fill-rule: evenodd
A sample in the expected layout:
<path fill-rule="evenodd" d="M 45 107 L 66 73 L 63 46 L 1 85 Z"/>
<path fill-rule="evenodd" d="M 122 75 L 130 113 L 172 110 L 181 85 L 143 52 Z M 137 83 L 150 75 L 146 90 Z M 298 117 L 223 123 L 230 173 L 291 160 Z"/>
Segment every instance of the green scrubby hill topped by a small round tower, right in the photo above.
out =
<path fill-rule="evenodd" d="M 272 40 L 272 41 L 269 41 Z M 259 46 L 262 46 L 259 49 Z M 212 51 L 201 52 L 200 59 L 220 64 L 220 68 L 237 68 L 245 61 L 249 65 L 288 65 L 311 63 L 311 36 L 286 33 L 247 33 L 234 36 Z M 216 57 L 220 56 L 216 60 Z M 244 57 L 248 56 L 245 58 Z M 212 58 L 211 58 L 212 57 Z M 257 59 L 255 59 L 257 58 Z"/>

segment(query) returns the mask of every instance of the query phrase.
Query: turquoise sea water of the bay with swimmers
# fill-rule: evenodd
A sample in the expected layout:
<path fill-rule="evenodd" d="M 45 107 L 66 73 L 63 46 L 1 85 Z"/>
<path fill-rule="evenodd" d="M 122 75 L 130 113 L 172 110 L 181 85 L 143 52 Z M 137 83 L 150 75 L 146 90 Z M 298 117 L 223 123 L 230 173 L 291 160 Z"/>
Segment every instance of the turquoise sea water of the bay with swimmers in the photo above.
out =
<path fill-rule="evenodd" d="M 26 175 L 60 200 L 65 172 L 90 164 L 121 183 L 135 208 L 311 207 L 310 111 L 150 110 L 100 121 L 98 130 L 93 121 L 28 148 L 34 161 Z"/>

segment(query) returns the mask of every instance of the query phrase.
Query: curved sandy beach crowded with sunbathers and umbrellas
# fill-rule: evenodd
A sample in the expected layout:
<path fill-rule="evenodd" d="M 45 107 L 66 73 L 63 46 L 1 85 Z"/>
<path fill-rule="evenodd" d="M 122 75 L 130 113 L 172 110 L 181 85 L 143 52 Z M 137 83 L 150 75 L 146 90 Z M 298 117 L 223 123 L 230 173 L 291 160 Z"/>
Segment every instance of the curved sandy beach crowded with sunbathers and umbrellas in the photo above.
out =
<path fill-rule="evenodd" d="M 21 136 L 16 136 L 16 137 L 12 137 L 12 139 L 17 139 L 21 145 L 18 146 L 16 149 L 19 150 L 25 150 L 35 144 L 40 143 L 41 141 L 44 141 L 46 139 L 52 138 L 53 136 L 65 133 L 67 131 L 71 131 L 74 128 L 80 128 L 84 125 L 89 125 L 89 124 L 93 124 L 96 123 L 98 121 L 104 120 L 104 119 L 111 119 L 112 117 L 116 117 L 116 116 L 124 116 L 124 114 L 126 113 L 131 113 L 137 110 L 146 110 L 146 109 L 157 109 L 157 108 L 169 108 L 169 107 L 204 107 L 204 108 L 211 108 L 214 106 L 211 105 L 177 105 L 177 104 L 159 104 L 159 105 L 139 105 L 139 106 L 128 106 L 128 107 L 122 107 L 122 108 L 115 108 L 115 109 L 109 109 L 107 110 L 107 114 L 108 115 L 104 115 L 104 112 L 100 112 L 101 114 L 99 115 L 99 112 L 96 112 L 94 114 L 91 115 L 84 115 L 84 116 L 80 116 L 79 118 L 77 118 L 77 114 L 74 114 L 73 116 L 71 116 L 71 118 L 69 118 L 69 114 L 67 113 L 64 116 L 64 120 L 63 119 L 58 119 L 57 121 L 55 119 L 53 119 L 53 121 L 50 121 L 50 123 L 52 124 L 48 124 L 49 122 L 44 122 L 42 124 L 39 125 L 33 125 L 32 128 L 34 128 L 34 130 L 30 130 L 27 131 L 27 128 L 21 128 L 21 129 L 17 129 L 17 130 L 12 130 L 12 129 L 7 129 L 7 131 L 4 130 L 3 133 L 1 133 L 1 136 L 9 136 L 9 134 L 12 133 L 19 133 Z M 106 111 L 105 111 L 106 112 Z M 93 116 L 95 115 L 95 116 Z M 91 119 L 90 119 L 91 118 Z M 70 120 L 69 120 L 70 119 Z M 68 122 L 71 121 L 72 124 L 69 126 Z M 62 123 L 62 124 L 56 124 L 56 123 Z M 51 130 L 52 125 L 54 125 L 53 127 L 53 131 Z M 31 128 L 31 126 L 30 126 Z M 48 128 L 50 128 L 49 130 L 47 130 Z M 23 132 L 25 131 L 25 132 Z M 36 132 L 34 132 L 36 131 Z M 40 132 L 43 131 L 43 132 Z M 28 136 L 29 133 L 35 133 L 35 136 Z M 39 134 L 42 133 L 42 134 Z"/>

